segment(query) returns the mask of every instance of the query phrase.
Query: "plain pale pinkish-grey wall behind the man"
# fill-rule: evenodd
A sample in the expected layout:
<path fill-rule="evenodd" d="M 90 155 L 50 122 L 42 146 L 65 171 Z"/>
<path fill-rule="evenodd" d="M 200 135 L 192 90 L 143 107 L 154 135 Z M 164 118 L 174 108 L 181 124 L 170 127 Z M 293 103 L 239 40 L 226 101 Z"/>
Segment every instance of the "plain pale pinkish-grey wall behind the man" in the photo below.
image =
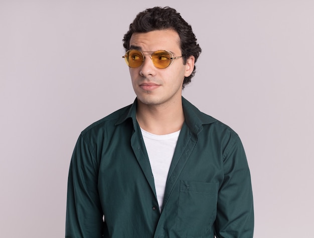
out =
<path fill-rule="evenodd" d="M 312 0 L 0 0 L 0 237 L 64 237 L 74 144 L 133 101 L 121 39 L 156 2 L 203 49 L 184 96 L 242 138 L 254 237 L 314 237 Z"/>

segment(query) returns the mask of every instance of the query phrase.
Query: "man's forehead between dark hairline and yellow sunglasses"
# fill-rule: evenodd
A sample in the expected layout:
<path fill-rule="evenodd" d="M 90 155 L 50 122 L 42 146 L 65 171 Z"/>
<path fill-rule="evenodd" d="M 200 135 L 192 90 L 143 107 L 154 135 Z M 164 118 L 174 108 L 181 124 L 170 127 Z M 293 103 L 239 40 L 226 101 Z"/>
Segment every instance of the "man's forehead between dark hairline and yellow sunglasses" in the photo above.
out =
<path fill-rule="evenodd" d="M 154 51 L 158 49 L 180 50 L 180 36 L 173 29 L 135 32 L 130 38 L 130 47 Z"/>

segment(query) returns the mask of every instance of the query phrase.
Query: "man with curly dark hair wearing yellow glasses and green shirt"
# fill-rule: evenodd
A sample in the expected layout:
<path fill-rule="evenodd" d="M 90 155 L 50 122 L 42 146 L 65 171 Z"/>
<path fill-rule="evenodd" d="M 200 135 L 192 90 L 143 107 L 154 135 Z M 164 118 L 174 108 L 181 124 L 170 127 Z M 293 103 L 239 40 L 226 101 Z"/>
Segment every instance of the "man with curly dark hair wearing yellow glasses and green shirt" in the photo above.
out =
<path fill-rule="evenodd" d="M 66 237 L 252 237 L 241 141 L 182 97 L 201 52 L 191 26 L 173 8 L 146 9 L 123 45 L 137 97 L 82 131 Z"/>

